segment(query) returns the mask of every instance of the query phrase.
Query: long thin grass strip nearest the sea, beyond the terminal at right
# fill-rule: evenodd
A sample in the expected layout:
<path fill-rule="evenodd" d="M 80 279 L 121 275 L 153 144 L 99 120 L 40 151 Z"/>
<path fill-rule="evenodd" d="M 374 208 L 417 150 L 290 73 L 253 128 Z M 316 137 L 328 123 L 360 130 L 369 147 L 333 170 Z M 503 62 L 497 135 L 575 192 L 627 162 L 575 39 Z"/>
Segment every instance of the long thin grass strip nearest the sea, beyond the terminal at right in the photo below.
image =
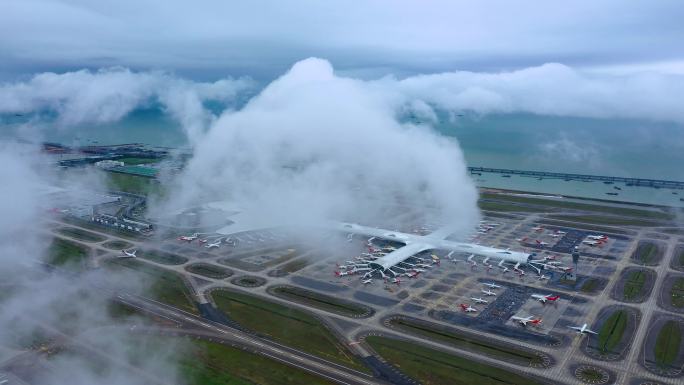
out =
<path fill-rule="evenodd" d="M 516 202 L 516 203 L 526 203 L 526 204 L 539 205 L 539 206 L 558 207 L 558 208 L 564 208 L 564 209 L 591 211 L 591 212 L 606 213 L 606 214 L 624 215 L 624 216 L 637 217 L 637 218 L 652 218 L 652 219 L 664 219 L 664 220 L 674 219 L 674 216 L 672 214 L 663 213 L 660 211 L 630 209 L 630 208 L 616 207 L 616 206 L 593 205 L 593 204 L 588 204 L 588 203 L 570 202 L 567 200 L 558 200 L 558 199 L 530 198 L 530 197 L 523 197 L 523 196 L 517 196 L 517 195 L 504 195 L 504 194 L 493 194 L 493 193 L 482 193 L 482 194 L 480 194 L 480 198 L 493 199 L 493 200 L 499 200 L 499 201 Z"/>

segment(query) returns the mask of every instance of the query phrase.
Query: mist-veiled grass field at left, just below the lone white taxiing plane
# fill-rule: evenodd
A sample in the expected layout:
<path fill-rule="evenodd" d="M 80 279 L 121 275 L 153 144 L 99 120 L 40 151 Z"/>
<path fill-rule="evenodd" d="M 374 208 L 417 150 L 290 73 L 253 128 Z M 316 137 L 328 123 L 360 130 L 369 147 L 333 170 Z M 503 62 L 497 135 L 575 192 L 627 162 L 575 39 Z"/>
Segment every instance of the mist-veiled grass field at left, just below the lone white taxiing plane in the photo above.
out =
<path fill-rule="evenodd" d="M 145 296 L 177 307 L 193 314 L 199 314 L 192 294 L 181 277 L 173 272 L 157 268 L 131 258 L 112 258 L 103 263 L 110 271 L 133 274 L 141 282 L 149 284 Z"/>

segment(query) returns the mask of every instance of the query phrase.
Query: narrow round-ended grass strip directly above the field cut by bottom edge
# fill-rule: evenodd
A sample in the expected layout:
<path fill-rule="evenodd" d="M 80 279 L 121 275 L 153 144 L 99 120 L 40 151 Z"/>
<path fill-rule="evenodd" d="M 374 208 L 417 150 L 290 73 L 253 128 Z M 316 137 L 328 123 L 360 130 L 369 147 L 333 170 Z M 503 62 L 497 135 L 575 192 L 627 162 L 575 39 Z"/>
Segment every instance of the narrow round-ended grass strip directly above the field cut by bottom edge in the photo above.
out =
<path fill-rule="evenodd" d="M 481 353 L 502 360 L 513 361 L 524 366 L 539 365 L 543 363 L 541 357 L 530 350 L 516 349 L 513 346 L 498 344 L 495 340 L 485 339 L 475 335 L 466 335 L 465 333 L 460 333 L 456 329 L 446 330 L 442 328 L 441 330 L 438 330 L 433 327 L 425 326 L 422 323 L 402 318 L 394 318 L 390 321 L 390 324 L 397 329 L 406 331 L 410 334 L 425 336 L 433 340 L 445 342 L 460 349 Z M 439 326 L 436 325 L 435 327 Z"/>

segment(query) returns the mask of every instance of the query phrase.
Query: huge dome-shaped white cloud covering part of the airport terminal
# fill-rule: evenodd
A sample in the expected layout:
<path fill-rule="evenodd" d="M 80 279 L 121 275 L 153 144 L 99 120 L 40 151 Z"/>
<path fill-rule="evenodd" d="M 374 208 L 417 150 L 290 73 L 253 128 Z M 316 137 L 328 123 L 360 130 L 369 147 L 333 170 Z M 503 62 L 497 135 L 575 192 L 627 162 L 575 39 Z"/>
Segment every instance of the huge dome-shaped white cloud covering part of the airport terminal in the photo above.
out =
<path fill-rule="evenodd" d="M 211 126 L 171 203 L 230 200 L 266 225 L 382 220 L 395 205 L 425 206 L 464 232 L 477 193 L 458 144 L 401 124 L 397 102 L 325 60 L 301 61 Z"/>

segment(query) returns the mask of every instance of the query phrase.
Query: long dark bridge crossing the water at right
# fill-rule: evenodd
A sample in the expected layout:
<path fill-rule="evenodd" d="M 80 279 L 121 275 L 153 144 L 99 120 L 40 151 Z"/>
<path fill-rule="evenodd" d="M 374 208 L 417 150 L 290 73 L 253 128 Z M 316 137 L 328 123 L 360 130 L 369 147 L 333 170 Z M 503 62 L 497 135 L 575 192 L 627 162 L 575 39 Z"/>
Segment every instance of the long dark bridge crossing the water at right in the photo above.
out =
<path fill-rule="evenodd" d="M 618 182 L 625 183 L 628 186 L 646 186 L 655 188 L 674 188 L 684 189 L 684 182 L 674 180 L 661 179 L 644 179 L 644 178 L 627 178 L 620 176 L 602 176 L 602 175 L 585 175 L 585 174 L 568 174 L 560 172 L 548 171 L 528 171 L 528 170 L 510 170 L 505 168 L 490 168 L 490 167 L 468 167 L 471 175 L 478 175 L 483 172 L 502 174 L 502 175 L 521 175 L 542 179 L 563 179 L 563 180 L 578 180 L 578 181 L 602 181 L 602 182 Z"/>

